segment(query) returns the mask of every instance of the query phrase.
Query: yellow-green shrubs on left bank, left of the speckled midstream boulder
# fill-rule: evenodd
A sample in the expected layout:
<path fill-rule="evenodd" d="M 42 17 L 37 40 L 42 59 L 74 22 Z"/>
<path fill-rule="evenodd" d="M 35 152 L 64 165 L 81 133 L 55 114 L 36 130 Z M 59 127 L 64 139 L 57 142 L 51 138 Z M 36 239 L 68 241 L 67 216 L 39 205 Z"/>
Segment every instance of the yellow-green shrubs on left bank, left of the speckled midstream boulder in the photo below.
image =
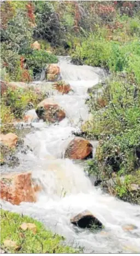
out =
<path fill-rule="evenodd" d="M 12 132 L 14 120 L 23 118 L 25 111 L 36 107 L 44 97 L 30 87 L 9 87 L 1 98 L 1 132 Z"/>

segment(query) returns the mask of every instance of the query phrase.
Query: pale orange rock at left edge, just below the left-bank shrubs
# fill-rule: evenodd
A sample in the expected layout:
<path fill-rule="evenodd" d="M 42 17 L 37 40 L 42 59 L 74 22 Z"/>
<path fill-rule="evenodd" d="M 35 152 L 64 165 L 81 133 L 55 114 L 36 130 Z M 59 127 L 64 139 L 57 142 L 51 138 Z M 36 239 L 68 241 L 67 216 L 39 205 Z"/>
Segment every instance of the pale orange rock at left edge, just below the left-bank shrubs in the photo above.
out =
<path fill-rule="evenodd" d="M 15 147 L 18 137 L 14 133 L 1 134 L 1 142 L 9 147 Z"/>

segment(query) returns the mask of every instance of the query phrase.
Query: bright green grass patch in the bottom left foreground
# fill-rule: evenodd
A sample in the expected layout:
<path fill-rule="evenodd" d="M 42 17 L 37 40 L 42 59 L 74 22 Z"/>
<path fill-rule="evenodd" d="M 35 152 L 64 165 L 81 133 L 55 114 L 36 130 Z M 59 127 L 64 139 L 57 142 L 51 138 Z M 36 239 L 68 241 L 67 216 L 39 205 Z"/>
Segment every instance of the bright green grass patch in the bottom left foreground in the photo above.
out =
<path fill-rule="evenodd" d="M 31 230 L 22 231 L 22 223 L 34 223 L 37 226 L 37 233 L 34 235 Z M 4 240 L 12 240 L 21 248 L 18 252 L 15 249 L 4 248 Z M 27 216 L 10 213 L 1 209 L 1 248 L 11 253 L 77 253 L 75 249 L 63 244 L 62 236 L 53 234 L 44 228 L 43 224 Z"/>

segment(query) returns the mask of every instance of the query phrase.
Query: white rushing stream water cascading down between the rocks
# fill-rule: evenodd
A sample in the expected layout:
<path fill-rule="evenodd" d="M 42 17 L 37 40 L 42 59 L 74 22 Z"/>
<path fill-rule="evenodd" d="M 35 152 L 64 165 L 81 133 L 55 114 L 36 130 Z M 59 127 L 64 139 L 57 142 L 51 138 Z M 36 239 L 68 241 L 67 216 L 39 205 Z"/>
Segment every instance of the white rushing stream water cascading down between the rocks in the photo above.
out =
<path fill-rule="evenodd" d="M 42 184 L 36 203 L 21 203 L 15 206 L 1 202 L 4 209 L 30 215 L 60 235 L 75 247 L 84 247 L 86 253 L 139 253 L 140 252 L 140 207 L 103 194 L 91 184 L 84 173 L 84 162 L 63 158 L 63 153 L 89 113 L 85 98 L 89 87 L 103 77 L 101 69 L 89 66 L 74 66 L 68 58 L 60 58 L 61 77 L 71 84 L 73 92 L 68 95 L 54 93 L 53 98 L 65 109 L 66 118 L 59 124 L 48 126 L 34 122 L 33 132 L 26 135 L 25 145 L 32 148 L 25 155 L 18 153 L 20 166 L 16 171 L 31 170 L 33 178 Z M 48 83 L 36 82 L 40 87 Z M 36 120 L 35 120 L 36 121 Z M 92 141 L 94 147 L 97 142 Z M 5 172 L 5 169 L 2 169 Z M 12 169 L 6 169 L 11 172 Z M 104 225 L 104 232 L 78 229 L 70 218 L 89 209 Z M 123 225 L 132 224 L 136 229 L 124 231 Z"/>

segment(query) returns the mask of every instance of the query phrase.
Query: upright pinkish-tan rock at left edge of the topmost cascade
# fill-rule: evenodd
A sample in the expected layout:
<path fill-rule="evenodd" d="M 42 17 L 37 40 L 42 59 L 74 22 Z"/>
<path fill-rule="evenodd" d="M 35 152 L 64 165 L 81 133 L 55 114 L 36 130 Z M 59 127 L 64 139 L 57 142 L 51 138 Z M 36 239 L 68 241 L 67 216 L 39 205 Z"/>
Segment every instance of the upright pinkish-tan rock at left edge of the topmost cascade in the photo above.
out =
<path fill-rule="evenodd" d="M 60 67 L 56 64 L 49 64 L 46 68 L 46 78 L 50 82 L 57 81 L 60 75 Z"/>

